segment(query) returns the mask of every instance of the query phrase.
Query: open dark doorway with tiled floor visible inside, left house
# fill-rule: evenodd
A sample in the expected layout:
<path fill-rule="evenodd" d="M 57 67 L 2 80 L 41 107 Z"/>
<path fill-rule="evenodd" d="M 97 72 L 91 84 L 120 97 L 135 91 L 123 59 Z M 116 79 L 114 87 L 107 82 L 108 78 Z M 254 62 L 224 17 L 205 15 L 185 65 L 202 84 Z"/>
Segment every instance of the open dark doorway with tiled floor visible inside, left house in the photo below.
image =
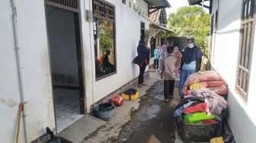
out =
<path fill-rule="evenodd" d="M 56 130 L 61 132 L 85 114 L 79 13 L 46 3 L 46 24 Z"/>

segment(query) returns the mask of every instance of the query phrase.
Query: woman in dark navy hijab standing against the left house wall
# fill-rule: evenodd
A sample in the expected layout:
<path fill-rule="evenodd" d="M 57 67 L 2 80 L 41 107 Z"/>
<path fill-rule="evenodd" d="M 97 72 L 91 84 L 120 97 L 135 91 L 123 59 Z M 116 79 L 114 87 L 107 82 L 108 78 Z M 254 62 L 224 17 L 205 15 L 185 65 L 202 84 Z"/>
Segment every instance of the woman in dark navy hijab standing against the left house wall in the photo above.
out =
<path fill-rule="evenodd" d="M 142 85 L 147 86 L 144 84 L 144 72 L 146 66 L 149 65 L 149 55 L 150 49 L 145 46 L 145 40 L 139 40 L 139 45 L 137 47 L 138 56 L 133 59 L 133 63 L 139 65 L 139 88 L 142 88 Z"/>

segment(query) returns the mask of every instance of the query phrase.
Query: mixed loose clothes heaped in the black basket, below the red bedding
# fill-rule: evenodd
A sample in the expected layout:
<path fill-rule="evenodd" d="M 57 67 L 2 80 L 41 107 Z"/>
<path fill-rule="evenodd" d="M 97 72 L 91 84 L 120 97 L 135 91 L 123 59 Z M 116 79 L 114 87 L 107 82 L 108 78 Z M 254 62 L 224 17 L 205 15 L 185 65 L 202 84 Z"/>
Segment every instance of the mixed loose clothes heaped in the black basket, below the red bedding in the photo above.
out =
<path fill-rule="evenodd" d="M 184 122 L 189 124 L 214 125 L 222 121 L 220 115 L 226 107 L 224 97 L 201 87 L 178 103 L 174 116 L 184 119 Z"/>

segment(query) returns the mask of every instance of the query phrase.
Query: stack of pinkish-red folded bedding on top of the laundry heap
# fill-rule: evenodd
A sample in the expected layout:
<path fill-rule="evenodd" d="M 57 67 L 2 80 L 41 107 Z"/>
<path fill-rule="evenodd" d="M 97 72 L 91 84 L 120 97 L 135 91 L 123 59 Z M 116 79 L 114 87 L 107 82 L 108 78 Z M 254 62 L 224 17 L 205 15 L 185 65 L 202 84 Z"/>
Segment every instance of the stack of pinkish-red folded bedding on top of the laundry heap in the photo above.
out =
<path fill-rule="evenodd" d="M 216 71 L 199 71 L 189 75 L 182 91 L 186 96 L 202 87 L 206 87 L 221 96 L 228 94 L 226 81 Z"/>

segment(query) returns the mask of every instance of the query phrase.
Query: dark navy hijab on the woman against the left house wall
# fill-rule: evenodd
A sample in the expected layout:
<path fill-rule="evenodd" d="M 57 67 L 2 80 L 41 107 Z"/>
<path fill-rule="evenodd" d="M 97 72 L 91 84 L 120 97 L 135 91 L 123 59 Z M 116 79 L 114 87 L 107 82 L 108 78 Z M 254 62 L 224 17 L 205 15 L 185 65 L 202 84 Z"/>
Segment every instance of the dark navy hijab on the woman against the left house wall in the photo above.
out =
<path fill-rule="evenodd" d="M 139 40 L 139 45 L 137 46 L 138 56 L 133 59 L 133 63 L 138 64 L 143 62 L 145 59 L 149 60 L 150 49 L 145 46 L 145 40 Z"/>

